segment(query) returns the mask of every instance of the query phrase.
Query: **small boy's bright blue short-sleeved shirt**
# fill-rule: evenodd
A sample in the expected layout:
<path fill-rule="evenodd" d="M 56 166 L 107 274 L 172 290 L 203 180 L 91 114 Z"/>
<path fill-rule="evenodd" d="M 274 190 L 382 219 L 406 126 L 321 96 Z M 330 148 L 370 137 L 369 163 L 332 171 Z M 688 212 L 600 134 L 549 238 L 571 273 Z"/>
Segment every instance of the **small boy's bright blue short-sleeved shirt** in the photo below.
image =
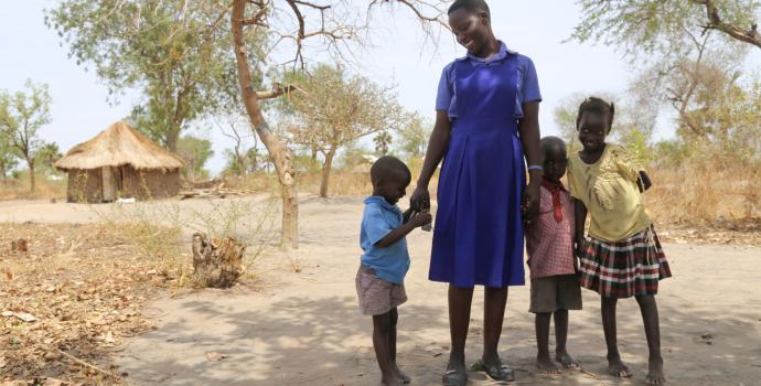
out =
<path fill-rule="evenodd" d="M 375 270 L 380 279 L 393 283 L 401 283 L 409 269 L 409 253 L 407 239 L 401 238 L 395 244 L 380 248 L 375 244 L 392 230 L 401 227 L 401 210 L 389 204 L 385 199 L 371 196 L 365 199 L 365 213 L 362 216 L 362 265 Z"/>

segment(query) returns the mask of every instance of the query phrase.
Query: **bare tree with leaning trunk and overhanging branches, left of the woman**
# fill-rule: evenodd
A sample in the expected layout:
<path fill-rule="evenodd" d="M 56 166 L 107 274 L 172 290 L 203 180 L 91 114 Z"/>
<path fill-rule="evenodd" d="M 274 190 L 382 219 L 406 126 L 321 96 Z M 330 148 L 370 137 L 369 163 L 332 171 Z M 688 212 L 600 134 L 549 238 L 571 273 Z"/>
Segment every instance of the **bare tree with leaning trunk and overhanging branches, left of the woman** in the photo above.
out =
<path fill-rule="evenodd" d="M 435 26 L 444 25 L 446 2 L 440 0 L 396 0 L 371 1 L 367 15 L 383 4 L 400 4 L 412 10 L 421 21 L 425 31 L 433 35 Z M 275 37 L 275 45 L 283 42 L 293 47 L 294 66 L 306 68 L 306 42 L 318 41 L 317 49 L 328 51 L 339 60 L 351 58 L 353 47 L 363 42 L 363 32 L 367 22 L 357 19 L 349 1 L 306 1 L 306 0 L 234 0 L 231 14 L 233 46 L 237 64 L 240 96 L 248 118 L 267 148 L 278 173 L 282 194 L 282 234 L 283 247 L 298 247 L 298 196 L 296 189 L 296 169 L 292 152 L 274 136 L 272 130 L 261 111 L 261 101 L 275 98 L 291 90 L 289 87 L 275 86 L 270 92 L 256 92 L 251 77 L 249 47 L 246 44 L 247 29 L 254 35 L 268 34 Z M 315 22 L 308 22 L 315 21 Z"/>

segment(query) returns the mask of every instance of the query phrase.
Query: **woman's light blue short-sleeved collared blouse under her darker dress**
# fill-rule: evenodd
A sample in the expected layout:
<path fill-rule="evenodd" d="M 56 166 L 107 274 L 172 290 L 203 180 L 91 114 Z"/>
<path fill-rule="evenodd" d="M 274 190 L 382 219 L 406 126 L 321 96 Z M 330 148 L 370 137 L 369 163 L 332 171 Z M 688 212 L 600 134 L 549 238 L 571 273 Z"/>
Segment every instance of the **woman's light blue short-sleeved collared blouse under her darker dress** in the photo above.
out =
<path fill-rule="evenodd" d="M 464 57 L 457 61 L 471 61 L 478 65 L 489 65 L 503 61 L 507 55 L 517 55 L 518 67 L 518 84 L 517 94 L 515 96 L 515 118 L 523 118 L 523 104 L 526 101 L 542 100 L 542 93 L 539 92 L 539 81 L 536 76 L 536 68 L 534 62 L 528 56 L 518 54 L 517 52 L 507 50 L 505 43 L 500 42 L 500 51 L 492 55 L 489 60 L 478 57 L 470 52 Z M 441 72 L 439 79 L 439 90 L 436 95 L 436 109 L 447 111 L 449 119 L 457 118 L 457 96 L 454 94 L 454 62 L 448 64 Z"/>

